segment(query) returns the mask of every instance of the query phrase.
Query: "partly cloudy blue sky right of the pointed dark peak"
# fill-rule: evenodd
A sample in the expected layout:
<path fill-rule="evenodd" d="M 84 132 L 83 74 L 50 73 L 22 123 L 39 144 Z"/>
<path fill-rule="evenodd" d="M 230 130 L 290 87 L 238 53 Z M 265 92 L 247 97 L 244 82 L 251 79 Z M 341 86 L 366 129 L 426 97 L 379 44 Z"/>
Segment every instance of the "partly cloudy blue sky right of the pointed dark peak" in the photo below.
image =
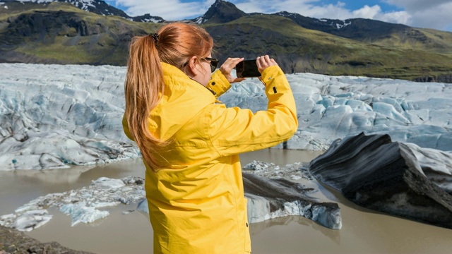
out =
<path fill-rule="evenodd" d="M 312 18 L 331 18 L 345 20 L 348 18 L 369 18 L 388 23 L 405 24 L 419 28 L 435 28 L 451 30 L 452 1 L 451 0 L 384 0 L 386 4 L 398 6 L 402 11 L 382 11 L 381 6 L 364 5 L 351 10 L 347 4 L 338 1 L 337 4 L 321 5 L 316 0 L 232 0 L 236 6 L 246 13 L 275 13 L 289 11 Z M 365 4 L 365 1 L 363 1 Z"/>

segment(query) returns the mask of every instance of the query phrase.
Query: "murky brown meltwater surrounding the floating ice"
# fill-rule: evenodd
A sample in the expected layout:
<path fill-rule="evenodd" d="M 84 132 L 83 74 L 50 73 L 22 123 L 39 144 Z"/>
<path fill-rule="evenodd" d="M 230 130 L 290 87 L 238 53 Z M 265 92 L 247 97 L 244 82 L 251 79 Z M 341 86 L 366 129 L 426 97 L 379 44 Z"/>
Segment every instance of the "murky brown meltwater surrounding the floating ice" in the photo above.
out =
<path fill-rule="evenodd" d="M 310 162 L 318 155 L 319 152 L 261 150 L 242 155 L 241 159 L 242 165 L 261 160 L 285 166 Z M 0 171 L 0 215 L 11 213 L 40 195 L 88 186 L 101 176 L 119 179 L 130 175 L 144 176 L 139 159 L 102 167 Z M 253 253 L 451 253 L 452 229 L 366 210 L 315 181 L 309 184 L 319 188 L 316 198 L 339 203 L 343 228 L 327 229 L 296 216 L 251 224 Z M 71 219 L 65 214 L 50 209 L 52 220 L 27 234 L 40 241 L 58 241 L 69 248 L 94 253 L 152 253 L 153 233 L 145 214 L 121 214 L 135 208 L 136 205 L 112 207 L 109 217 L 76 226 L 71 226 Z"/>

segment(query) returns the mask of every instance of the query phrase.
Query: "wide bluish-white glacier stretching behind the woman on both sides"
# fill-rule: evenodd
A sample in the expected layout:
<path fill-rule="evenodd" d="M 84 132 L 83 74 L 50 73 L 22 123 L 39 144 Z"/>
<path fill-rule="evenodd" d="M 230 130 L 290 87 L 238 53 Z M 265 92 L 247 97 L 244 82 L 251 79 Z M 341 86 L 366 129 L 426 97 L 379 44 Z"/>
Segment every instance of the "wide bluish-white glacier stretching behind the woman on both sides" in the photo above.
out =
<path fill-rule="evenodd" d="M 0 68 L 0 170 L 140 156 L 121 126 L 126 67 L 0 63 Z M 326 150 L 338 138 L 364 132 L 452 150 L 452 84 L 312 73 L 287 79 L 299 119 L 288 149 Z M 219 99 L 253 111 L 267 104 L 257 78 L 233 84 Z"/>

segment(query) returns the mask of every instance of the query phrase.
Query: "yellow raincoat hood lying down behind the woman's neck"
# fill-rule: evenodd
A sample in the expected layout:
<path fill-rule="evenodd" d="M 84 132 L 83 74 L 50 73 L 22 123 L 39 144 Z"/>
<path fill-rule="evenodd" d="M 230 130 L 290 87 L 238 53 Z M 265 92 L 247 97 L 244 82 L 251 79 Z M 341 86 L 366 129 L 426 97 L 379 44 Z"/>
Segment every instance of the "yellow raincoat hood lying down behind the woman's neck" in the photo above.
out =
<path fill-rule="evenodd" d="M 165 91 L 150 112 L 150 131 L 160 140 L 168 140 L 187 121 L 208 104 L 216 101 L 207 87 L 192 80 L 179 68 L 162 63 Z"/>

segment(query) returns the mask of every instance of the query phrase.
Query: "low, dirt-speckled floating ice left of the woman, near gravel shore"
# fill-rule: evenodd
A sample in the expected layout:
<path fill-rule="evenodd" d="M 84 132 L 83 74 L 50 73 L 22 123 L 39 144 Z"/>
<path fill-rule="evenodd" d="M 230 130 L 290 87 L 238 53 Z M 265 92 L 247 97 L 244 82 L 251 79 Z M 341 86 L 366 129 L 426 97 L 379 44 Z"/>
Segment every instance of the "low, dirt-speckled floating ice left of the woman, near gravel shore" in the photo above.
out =
<path fill-rule="evenodd" d="M 49 222 L 52 214 L 49 207 L 57 207 L 68 214 L 71 226 L 78 223 L 92 223 L 109 215 L 107 210 L 100 208 L 138 202 L 145 197 L 143 179 L 128 176 L 124 179 L 109 179 L 100 177 L 90 186 L 64 193 L 49 193 L 35 198 L 18 207 L 12 214 L 0 217 L 0 224 L 16 228 L 20 231 L 31 231 Z"/>

